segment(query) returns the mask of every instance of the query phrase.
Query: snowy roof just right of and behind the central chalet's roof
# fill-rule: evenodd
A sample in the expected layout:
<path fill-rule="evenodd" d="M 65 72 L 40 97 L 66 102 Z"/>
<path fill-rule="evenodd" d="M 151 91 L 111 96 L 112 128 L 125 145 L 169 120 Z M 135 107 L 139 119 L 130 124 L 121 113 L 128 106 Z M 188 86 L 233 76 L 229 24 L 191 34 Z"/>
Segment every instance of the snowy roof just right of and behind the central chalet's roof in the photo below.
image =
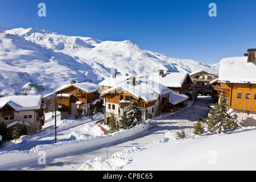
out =
<path fill-rule="evenodd" d="M 181 87 L 185 79 L 189 76 L 188 73 L 175 72 L 175 73 L 165 73 L 164 76 L 159 76 L 159 74 L 150 75 L 148 78 L 154 80 L 168 87 Z M 191 77 L 189 76 L 191 79 Z M 191 80 L 192 81 L 192 80 Z"/>

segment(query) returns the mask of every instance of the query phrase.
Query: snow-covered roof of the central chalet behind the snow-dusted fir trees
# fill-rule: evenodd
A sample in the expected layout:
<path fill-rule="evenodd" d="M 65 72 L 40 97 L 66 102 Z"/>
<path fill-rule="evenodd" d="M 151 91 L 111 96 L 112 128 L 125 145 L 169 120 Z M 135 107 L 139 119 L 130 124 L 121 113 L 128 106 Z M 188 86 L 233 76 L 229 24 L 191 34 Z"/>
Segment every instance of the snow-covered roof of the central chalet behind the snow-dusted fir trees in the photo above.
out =
<path fill-rule="evenodd" d="M 115 85 L 113 88 L 103 92 L 101 96 L 104 96 L 105 94 L 111 93 L 113 91 L 121 93 L 123 90 L 125 90 L 125 92 L 128 92 L 137 98 L 142 98 L 142 100 L 146 102 L 151 102 L 158 100 L 159 94 L 163 95 L 171 92 L 171 90 L 166 86 L 147 78 L 137 78 L 136 82 L 138 84 L 135 86 L 131 85 L 130 81 L 131 80 L 126 80 L 120 84 Z"/>

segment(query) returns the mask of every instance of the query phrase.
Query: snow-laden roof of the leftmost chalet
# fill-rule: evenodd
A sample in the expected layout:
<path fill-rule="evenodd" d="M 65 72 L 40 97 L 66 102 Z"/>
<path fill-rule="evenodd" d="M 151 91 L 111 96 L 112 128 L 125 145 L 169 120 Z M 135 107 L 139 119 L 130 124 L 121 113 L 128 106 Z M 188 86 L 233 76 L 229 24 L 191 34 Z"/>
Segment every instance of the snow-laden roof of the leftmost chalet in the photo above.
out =
<path fill-rule="evenodd" d="M 0 98 L 0 110 L 8 104 L 15 111 L 38 110 L 41 108 L 42 96 L 9 96 Z"/>

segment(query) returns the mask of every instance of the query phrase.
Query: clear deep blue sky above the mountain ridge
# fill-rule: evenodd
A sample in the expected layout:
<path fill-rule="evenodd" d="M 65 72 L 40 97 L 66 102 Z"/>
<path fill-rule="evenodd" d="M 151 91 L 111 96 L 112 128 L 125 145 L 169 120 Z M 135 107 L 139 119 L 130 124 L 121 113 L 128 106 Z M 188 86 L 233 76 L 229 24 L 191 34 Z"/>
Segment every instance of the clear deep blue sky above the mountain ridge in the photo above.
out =
<path fill-rule="evenodd" d="M 46 4 L 46 17 L 38 4 Z M 210 3 L 217 17 L 210 17 Z M 255 0 L 9 0 L 0 1 L 0 24 L 40 28 L 99 40 L 131 40 L 179 59 L 218 63 L 256 48 Z"/>

